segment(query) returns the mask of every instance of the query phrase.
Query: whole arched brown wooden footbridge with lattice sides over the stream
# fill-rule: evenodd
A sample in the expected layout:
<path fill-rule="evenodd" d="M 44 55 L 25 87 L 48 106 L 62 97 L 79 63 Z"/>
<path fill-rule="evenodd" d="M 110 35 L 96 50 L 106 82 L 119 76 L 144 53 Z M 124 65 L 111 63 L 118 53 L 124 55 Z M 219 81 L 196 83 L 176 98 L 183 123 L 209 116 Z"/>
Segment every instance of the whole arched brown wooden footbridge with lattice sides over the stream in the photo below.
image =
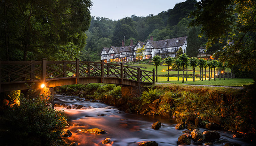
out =
<path fill-rule="evenodd" d="M 155 83 L 155 70 L 147 71 L 121 64 L 87 61 L 1 62 L 1 90 L 38 89 L 68 84 L 106 83 L 140 87 Z"/>

